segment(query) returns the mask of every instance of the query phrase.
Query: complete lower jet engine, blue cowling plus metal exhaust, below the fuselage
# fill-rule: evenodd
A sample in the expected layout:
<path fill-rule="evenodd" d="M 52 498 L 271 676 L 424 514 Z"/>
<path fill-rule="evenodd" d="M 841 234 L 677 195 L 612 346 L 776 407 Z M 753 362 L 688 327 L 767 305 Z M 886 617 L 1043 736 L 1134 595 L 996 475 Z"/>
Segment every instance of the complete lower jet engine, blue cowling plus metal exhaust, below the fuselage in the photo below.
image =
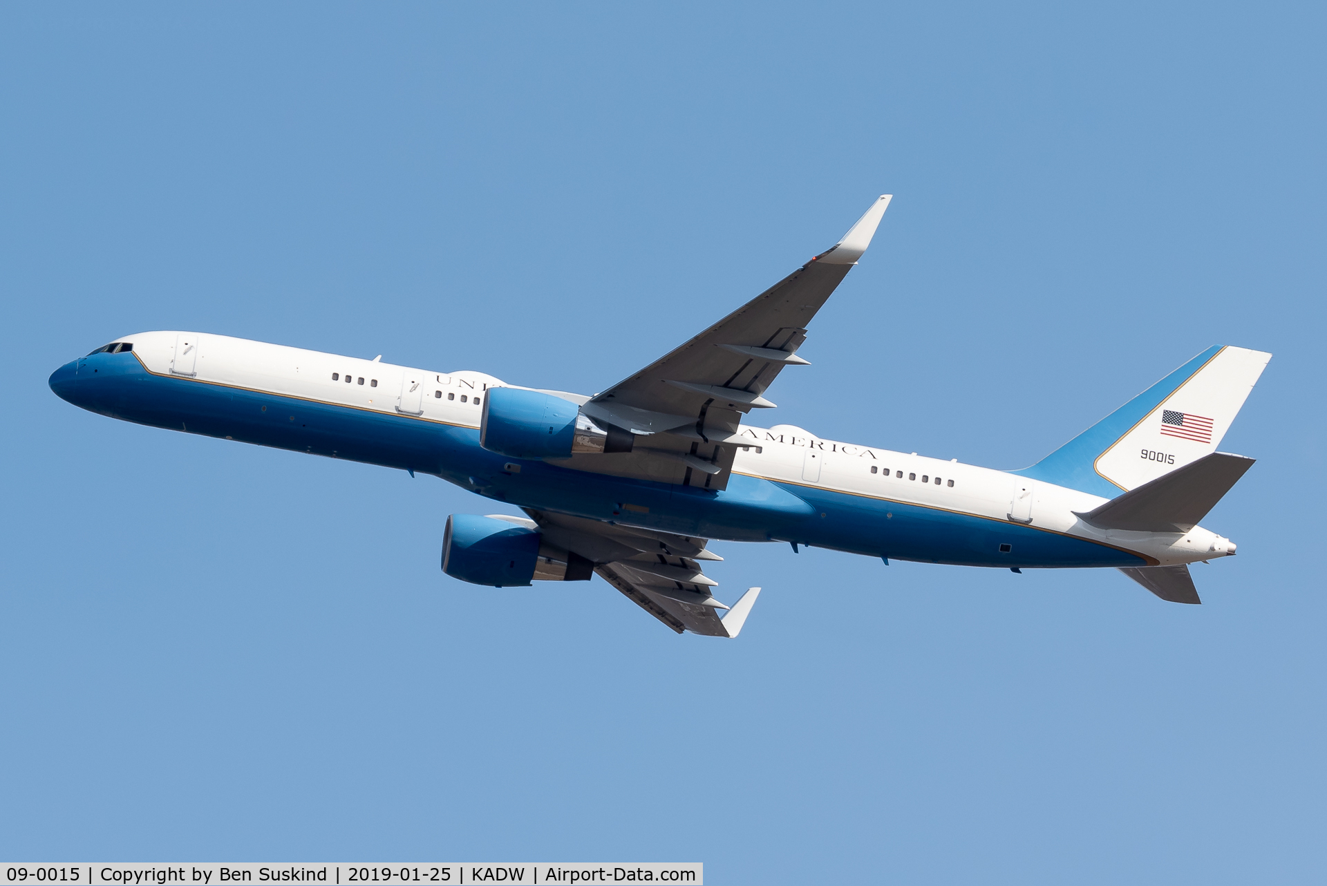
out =
<path fill-rule="evenodd" d="M 527 588 L 531 581 L 589 581 L 594 564 L 547 544 L 533 520 L 454 513 L 442 537 L 442 570 L 472 585 Z"/>

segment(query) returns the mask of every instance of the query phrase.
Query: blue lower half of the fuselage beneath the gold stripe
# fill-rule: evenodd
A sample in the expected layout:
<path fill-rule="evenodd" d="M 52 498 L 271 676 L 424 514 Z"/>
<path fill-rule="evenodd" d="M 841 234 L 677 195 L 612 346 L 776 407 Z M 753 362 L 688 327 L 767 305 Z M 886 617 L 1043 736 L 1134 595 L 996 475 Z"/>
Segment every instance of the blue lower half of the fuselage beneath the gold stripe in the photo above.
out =
<path fill-rule="evenodd" d="M 512 505 L 706 538 L 795 541 L 974 566 L 1139 566 L 1131 553 L 1055 532 L 734 474 L 717 492 L 515 460 L 479 431 L 373 410 L 153 375 L 127 354 L 80 381 L 84 409 L 114 418 L 441 476 Z M 518 463 L 519 472 L 504 466 Z M 628 507 L 630 505 L 630 507 Z M 1001 553 L 1001 545 L 1010 545 Z"/>

